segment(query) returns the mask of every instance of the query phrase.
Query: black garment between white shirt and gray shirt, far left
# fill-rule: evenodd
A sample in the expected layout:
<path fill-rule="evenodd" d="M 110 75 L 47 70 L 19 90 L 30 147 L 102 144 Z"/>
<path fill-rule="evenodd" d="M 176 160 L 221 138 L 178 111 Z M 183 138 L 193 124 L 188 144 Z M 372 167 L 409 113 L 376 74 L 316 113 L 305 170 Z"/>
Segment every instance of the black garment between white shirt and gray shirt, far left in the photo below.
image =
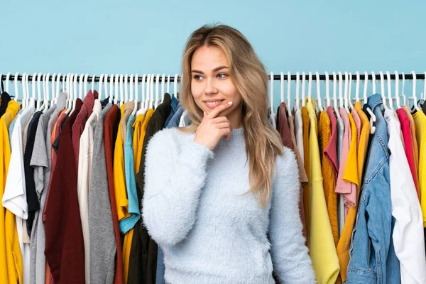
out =
<path fill-rule="evenodd" d="M 40 209 L 37 192 L 35 192 L 34 168 L 31 167 L 30 163 L 31 156 L 33 155 L 35 132 L 37 131 L 38 121 L 40 120 L 41 114 L 43 114 L 42 111 L 36 111 L 30 121 L 30 124 L 28 124 L 27 143 L 25 147 L 25 154 L 23 155 L 23 168 L 25 170 L 26 195 L 28 203 L 28 219 L 26 222 L 28 236 L 31 236 L 35 212 Z"/>

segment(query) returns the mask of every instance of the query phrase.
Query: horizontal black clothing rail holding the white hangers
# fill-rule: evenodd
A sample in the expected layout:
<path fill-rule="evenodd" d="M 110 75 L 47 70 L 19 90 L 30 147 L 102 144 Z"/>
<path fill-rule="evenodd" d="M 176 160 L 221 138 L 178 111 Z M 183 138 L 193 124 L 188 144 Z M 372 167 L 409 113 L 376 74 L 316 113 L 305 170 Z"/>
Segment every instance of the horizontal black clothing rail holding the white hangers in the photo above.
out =
<path fill-rule="evenodd" d="M 37 76 L 38 75 L 36 75 L 36 77 Z M 307 76 L 308 75 L 306 74 L 305 75 L 305 79 L 307 79 Z M 6 77 L 7 77 L 7 75 L 1 75 L 1 80 L 2 81 L 6 80 Z M 10 75 L 9 76 L 9 80 L 14 81 L 15 77 L 16 77 L 15 75 Z M 22 81 L 22 77 L 23 77 L 22 75 L 18 75 L 17 77 L 18 77 L 18 81 Z M 67 77 L 67 75 L 61 75 L 59 77 L 59 80 L 65 80 L 66 77 Z M 77 80 L 80 80 L 80 77 L 84 77 L 84 76 L 77 75 Z M 105 77 L 109 77 L 109 75 L 106 74 Z M 116 74 L 114 74 L 114 77 L 116 77 Z M 162 75 L 160 77 L 162 77 Z M 168 76 L 165 76 L 165 77 L 167 78 Z M 302 75 L 302 73 L 300 73 L 299 80 L 302 80 L 302 77 L 303 77 L 303 75 Z M 320 81 L 325 81 L 327 79 L 327 75 L 320 75 L 319 77 L 320 77 Z M 343 77 L 345 78 L 344 74 L 343 74 Z M 366 77 L 367 77 L 367 80 L 373 80 L 373 75 L 372 74 L 368 74 L 368 75 L 359 74 L 359 79 L 360 80 L 365 80 Z M 376 80 L 381 80 L 381 75 L 378 74 L 378 73 L 375 74 L 374 77 L 375 77 Z M 395 74 L 391 74 L 390 77 L 391 77 L 391 80 L 395 80 L 395 78 L 396 78 Z M 405 74 L 404 77 L 405 77 L 406 80 L 413 80 L 413 74 L 412 73 Z M 425 80 L 425 73 L 415 74 L 415 77 L 416 77 L 416 80 Z M 387 79 L 386 74 L 383 75 L 383 78 L 385 80 Z M 399 74 L 399 78 L 400 79 L 402 78 L 401 74 Z M 32 79 L 33 79 L 33 75 L 28 75 L 28 80 L 31 81 Z M 178 76 L 178 82 L 180 82 L 180 79 L 181 79 L 181 77 Z M 333 80 L 333 75 L 329 74 L 328 75 L 328 79 L 332 81 Z M 351 75 L 351 79 L 352 80 L 356 80 L 356 74 L 352 74 Z M 58 80 L 58 77 L 56 77 L 55 80 Z M 75 78 L 74 78 L 74 80 L 75 80 Z M 99 80 L 100 80 L 100 76 L 94 76 L 94 82 L 99 82 Z M 123 79 L 123 80 L 124 80 L 123 82 L 125 82 L 125 79 Z M 148 80 L 148 76 L 146 76 L 145 82 L 147 82 L 147 80 Z M 268 80 L 271 80 L 271 75 L 268 75 Z M 273 80 L 274 81 L 281 80 L 281 75 L 273 75 Z M 283 80 L 288 80 L 288 75 L 284 74 L 283 75 Z M 290 75 L 290 80 L 291 81 L 297 80 L 297 75 Z M 316 75 L 315 74 L 312 74 L 312 80 L 316 80 Z M 50 75 L 49 81 L 52 81 L 52 75 Z M 88 76 L 87 77 L 87 81 L 88 82 L 92 82 L 93 81 L 93 76 Z M 142 81 L 143 81 L 143 76 L 139 75 L 138 82 L 142 82 Z M 130 75 L 127 78 L 127 82 L 130 82 Z M 175 76 L 170 76 L 170 78 L 168 79 L 168 82 L 175 82 Z"/>

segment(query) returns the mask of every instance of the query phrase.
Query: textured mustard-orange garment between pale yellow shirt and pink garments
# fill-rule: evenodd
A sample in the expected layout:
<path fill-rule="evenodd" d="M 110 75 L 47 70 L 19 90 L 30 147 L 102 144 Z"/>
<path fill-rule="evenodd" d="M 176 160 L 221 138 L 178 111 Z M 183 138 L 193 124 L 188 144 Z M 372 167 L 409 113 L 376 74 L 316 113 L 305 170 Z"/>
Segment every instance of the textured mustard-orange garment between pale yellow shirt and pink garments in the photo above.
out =
<path fill-rule="evenodd" d="M 339 242 L 339 222 L 337 218 L 337 194 L 336 189 L 336 174 L 334 173 L 332 163 L 324 156 L 324 149 L 332 136 L 332 126 L 327 111 L 321 111 L 320 121 L 318 123 L 318 146 L 320 146 L 321 171 L 322 171 L 322 186 L 324 187 L 325 203 L 327 204 L 327 212 L 332 225 L 332 233 L 334 245 Z"/>

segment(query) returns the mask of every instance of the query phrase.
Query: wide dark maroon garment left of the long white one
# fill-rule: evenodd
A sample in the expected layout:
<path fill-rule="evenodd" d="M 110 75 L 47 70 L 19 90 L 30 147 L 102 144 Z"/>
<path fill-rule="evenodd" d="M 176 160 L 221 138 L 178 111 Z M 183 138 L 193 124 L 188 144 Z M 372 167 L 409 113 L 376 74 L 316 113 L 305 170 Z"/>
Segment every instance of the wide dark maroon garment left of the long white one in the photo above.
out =
<path fill-rule="evenodd" d="M 84 283 L 84 242 L 77 198 L 77 170 L 71 127 L 80 111 L 65 121 L 60 134 L 56 167 L 45 204 L 45 256 L 55 283 Z"/>

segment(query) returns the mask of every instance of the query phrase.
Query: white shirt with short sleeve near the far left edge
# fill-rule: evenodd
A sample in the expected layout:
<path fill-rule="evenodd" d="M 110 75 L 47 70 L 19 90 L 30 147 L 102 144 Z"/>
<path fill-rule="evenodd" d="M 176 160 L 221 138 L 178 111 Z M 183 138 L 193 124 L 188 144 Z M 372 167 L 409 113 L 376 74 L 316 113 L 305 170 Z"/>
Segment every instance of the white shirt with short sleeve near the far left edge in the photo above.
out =
<path fill-rule="evenodd" d="M 16 117 L 15 127 L 11 136 L 11 160 L 4 187 L 1 203 L 3 207 L 15 214 L 16 229 L 18 231 L 19 247 L 23 261 L 23 282 L 29 283 L 30 244 L 23 244 L 23 219 L 28 218 L 28 203 L 26 200 L 25 171 L 23 168 L 23 143 L 22 133 L 25 126 L 35 111 L 34 99 L 30 105 L 23 109 L 21 115 Z"/>

